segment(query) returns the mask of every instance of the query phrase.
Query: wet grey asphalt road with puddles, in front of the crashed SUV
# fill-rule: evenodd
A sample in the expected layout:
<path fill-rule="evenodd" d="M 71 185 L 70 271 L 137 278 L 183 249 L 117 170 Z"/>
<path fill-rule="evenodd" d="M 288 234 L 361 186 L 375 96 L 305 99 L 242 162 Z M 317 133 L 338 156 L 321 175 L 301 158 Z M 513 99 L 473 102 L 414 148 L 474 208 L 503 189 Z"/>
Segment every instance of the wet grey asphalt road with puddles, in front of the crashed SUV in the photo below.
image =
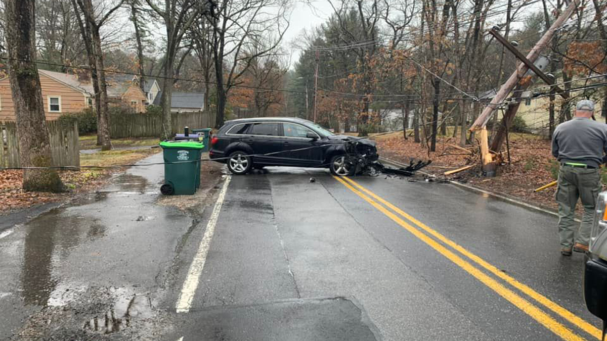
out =
<path fill-rule="evenodd" d="M 291 168 L 231 177 L 191 306 L 177 313 L 214 206 L 195 217 L 159 206 L 161 172 L 133 169 L 89 202 L 0 231 L 0 336 L 61 320 L 47 335 L 595 339 L 582 255 L 560 256 L 554 216 L 449 184 L 353 180 Z"/>

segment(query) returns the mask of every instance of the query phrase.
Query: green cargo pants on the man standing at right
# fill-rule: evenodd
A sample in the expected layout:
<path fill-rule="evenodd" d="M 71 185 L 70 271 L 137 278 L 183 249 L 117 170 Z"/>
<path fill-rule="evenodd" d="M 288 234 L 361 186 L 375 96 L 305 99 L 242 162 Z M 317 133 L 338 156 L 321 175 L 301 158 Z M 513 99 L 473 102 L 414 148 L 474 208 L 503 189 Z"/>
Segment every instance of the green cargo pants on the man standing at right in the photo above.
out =
<path fill-rule="evenodd" d="M 599 169 L 561 166 L 558 172 L 558 234 L 563 248 L 571 248 L 575 233 L 575 205 L 582 200 L 584 215 L 575 243 L 588 245 L 597 196 L 602 189 Z"/>

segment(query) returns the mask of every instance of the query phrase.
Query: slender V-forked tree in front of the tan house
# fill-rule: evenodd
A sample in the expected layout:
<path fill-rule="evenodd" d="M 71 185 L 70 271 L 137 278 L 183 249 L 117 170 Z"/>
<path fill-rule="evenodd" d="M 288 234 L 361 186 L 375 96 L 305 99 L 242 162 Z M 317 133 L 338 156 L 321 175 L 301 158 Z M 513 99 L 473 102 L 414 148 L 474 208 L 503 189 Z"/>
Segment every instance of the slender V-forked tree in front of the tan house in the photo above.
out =
<path fill-rule="evenodd" d="M 100 29 L 124 1 L 118 0 L 114 7 L 110 7 L 101 15 L 101 13 L 95 13 L 92 0 L 72 0 L 89 58 L 93 91 L 95 92 L 95 109 L 97 109 L 97 144 L 101 145 L 101 150 L 112 149 L 112 141 L 110 139 L 106 72 L 103 64 Z"/>

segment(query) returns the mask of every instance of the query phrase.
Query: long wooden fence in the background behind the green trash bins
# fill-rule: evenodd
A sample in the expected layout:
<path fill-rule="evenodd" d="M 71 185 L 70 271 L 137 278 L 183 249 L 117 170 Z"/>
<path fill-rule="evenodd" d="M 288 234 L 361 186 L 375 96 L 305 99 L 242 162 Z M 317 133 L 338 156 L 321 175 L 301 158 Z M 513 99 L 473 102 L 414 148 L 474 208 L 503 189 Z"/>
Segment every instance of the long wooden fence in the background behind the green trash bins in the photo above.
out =
<path fill-rule="evenodd" d="M 172 133 L 182 132 L 183 127 L 209 128 L 215 126 L 214 112 L 173 112 L 171 113 Z M 129 113 L 110 116 L 110 136 L 127 137 L 160 137 L 161 117 L 146 113 Z"/>

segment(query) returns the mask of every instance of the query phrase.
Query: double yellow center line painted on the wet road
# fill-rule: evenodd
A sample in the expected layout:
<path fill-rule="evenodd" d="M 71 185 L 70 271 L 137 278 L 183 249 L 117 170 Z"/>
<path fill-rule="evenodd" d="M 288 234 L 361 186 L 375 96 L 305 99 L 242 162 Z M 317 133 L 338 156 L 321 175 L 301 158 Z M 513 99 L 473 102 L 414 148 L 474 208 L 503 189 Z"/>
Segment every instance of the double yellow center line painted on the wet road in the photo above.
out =
<path fill-rule="evenodd" d="M 599 340 L 601 339 L 602 332 L 599 330 L 599 328 L 596 328 L 595 326 L 576 316 L 575 314 L 558 305 L 557 303 L 552 302 L 544 295 L 541 295 L 534 289 L 529 288 L 529 286 L 518 282 L 513 277 L 505 274 L 503 271 L 500 271 L 500 269 L 496 268 L 493 265 L 490 265 L 482 258 L 478 257 L 470 251 L 467 251 L 454 241 L 450 240 L 439 232 L 436 232 L 434 229 L 429 228 L 429 226 L 424 225 L 424 223 L 421 223 L 421 221 L 413 218 L 411 215 L 403 212 L 398 207 L 394 206 L 393 204 L 369 191 L 365 187 L 356 183 L 356 181 L 351 180 L 350 178 L 334 178 L 340 183 L 342 183 L 345 187 L 350 189 L 350 191 L 354 192 L 356 195 L 370 203 L 373 207 L 378 209 L 378 211 L 382 212 L 388 218 L 395 221 L 395 223 L 402 226 L 402 228 L 411 232 L 413 235 L 415 235 L 415 237 L 419 238 L 419 240 L 423 241 L 424 243 L 435 249 L 437 252 L 439 252 L 439 254 L 444 255 L 444 257 L 458 265 L 460 268 L 464 269 L 464 271 L 468 272 L 470 275 L 475 277 L 477 280 L 479 280 L 481 283 L 483 283 L 493 291 L 497 292 L 497 294 L 499 294 L 501 297 L 508 300 L 513 305 L 517 306 L 517 308 L 521 309 L 521 311 L 524 311 L 527 315 L 531 316 L 541 325 L 551 330 L 552 333 L 557 334 L 557 336 L 561 337 L 563 340 L 582 341 L 585 339 L 575 334 L 573 331 L 571 331 L 571 329 L 567 328 L 565 325 L 555 320 L 549 314 L 546 314 L 546 312 L 535 306 L 533 303 L 521 297 L 521 295 L 510 290 L 497 280 L 493 279 L 480 269 L 473 266 L 472 263 L 469 262 L 469 260 L 471 260 L 473 263 L 476 263 L 476 265 L 481 266 L 481 268 L 486 269 L 493 275 L 496 275 L 498 278 L 504 280 L 509 285 L 514 286 L 514 288 L 517 288 L 524 294 L 531 297 L 531 299 L 534 299 L 544 307 L 550 309 L 558 316 L 563 317 L 563 319 L 582 329 L 586 333 L 591 334 Z M 415 227 L 412 226 L 409 222 L 403 220 L 401 217 L 413 223 Z M 459 254 L 469 258 L 469 260 L 465 260 L 463 257 L 460 257 L 459 254 L 456 254 L 456 252 L 447 249 L 441 243 L 431 238 L 430 235 L 436 238 L 436 240 L 443 242 L 445 245 L 450 246 L 450 248 L 459 252 Z"/>

